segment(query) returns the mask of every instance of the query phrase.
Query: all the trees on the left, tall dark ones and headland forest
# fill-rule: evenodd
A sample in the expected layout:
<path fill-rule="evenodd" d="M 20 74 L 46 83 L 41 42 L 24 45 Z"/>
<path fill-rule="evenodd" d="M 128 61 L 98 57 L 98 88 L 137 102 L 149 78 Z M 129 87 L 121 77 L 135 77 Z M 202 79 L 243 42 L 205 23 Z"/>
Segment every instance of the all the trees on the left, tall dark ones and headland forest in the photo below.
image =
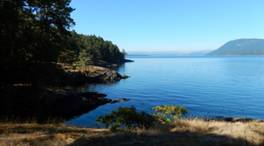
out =
<path fill-rule="evenodd" d="M 71 31 L 71 0 L 0 2 L 1 66 L 60 62 L 85 66 L 120 63 L 125 53 L 111 41 Z"/>

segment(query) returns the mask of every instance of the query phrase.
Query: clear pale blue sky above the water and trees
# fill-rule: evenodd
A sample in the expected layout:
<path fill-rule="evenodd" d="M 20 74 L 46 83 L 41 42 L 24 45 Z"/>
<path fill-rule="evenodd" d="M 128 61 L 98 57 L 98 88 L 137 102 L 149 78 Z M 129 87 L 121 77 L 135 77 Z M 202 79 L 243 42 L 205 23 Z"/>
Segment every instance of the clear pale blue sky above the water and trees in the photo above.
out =
<path fill-rule="evenodd" d="M 128 52 L 212 50 L 238 38 L 264 38 L 264 0 L 72 0 L 83 34 Z"/>

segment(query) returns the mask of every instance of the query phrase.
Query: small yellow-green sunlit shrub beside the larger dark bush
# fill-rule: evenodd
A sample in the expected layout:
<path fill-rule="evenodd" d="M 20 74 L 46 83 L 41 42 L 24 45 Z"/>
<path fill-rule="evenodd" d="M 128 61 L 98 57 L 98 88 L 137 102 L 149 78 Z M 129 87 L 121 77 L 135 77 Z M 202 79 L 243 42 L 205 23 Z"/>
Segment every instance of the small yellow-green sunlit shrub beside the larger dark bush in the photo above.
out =
<path fill-rule="evenodd" d="M 162 123 L 171 123 L 187 113 L 187 109 L 176 105 L 160 105 L 153 107 L 154 116 Z"/>

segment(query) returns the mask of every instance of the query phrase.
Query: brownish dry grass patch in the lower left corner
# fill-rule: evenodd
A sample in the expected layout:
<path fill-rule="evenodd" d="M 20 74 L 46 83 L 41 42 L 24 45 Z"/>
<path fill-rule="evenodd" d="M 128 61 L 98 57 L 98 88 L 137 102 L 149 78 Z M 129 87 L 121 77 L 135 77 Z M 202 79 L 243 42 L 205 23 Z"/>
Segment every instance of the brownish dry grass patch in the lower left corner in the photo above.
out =
<path fill-rule="evenodd" d="M 92 137 L 107 131 L 60 124 L 0 124 L 0 146 L 64 146 L 84 135 Z"/>

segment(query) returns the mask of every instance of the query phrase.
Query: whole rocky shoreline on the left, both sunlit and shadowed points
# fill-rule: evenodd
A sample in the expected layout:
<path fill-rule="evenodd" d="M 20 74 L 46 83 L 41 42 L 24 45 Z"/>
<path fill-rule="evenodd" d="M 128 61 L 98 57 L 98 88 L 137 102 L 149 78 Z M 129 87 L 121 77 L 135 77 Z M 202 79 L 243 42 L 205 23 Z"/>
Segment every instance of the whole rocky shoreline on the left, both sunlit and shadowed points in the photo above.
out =
<path fill-rule="evenodd" d="M 20 71 L 28 74 L 20 74 Z M 0 86 L 1 121 L 34 120 L 45 123 L 52 119 L 54 122 L 63 122 L 107 103 L 127 101 L 111 100 L 106 98 L 107 95 L 97 92 L 71 89 L 86 84 L 115 83 L 128 77 L 105 67 L 90 65 L 76 68 L 62 64 L 38 63 L 21 67 L 13 73 L 14 77 L 23 78 L 15 80 L 19 82 Z M 28 82 L 30 79 L 36 82 Z"/>

